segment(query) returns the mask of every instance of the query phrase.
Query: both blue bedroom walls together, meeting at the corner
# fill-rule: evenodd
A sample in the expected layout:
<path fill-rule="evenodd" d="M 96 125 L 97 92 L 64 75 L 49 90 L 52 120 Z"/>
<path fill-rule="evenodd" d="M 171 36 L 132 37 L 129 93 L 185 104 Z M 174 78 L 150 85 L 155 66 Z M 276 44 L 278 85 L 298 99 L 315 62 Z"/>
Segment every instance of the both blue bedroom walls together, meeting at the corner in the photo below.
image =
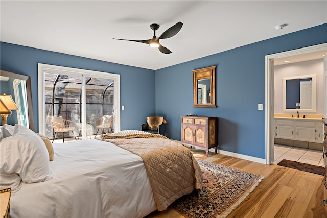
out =
<path fill-rule="evenodd" d="M 326 35 L 327 23 L 156 71 L 1 42 L 0 67 L 31 77 L 36 131 L 37 63 L 45 63 L 120 74 L 122 130 L 163 115 L 167 136 L 180 140 L 180 116 L 218 116 L 220 149 L 265 158 L 265 113 L 258 111 L 265 102 L 265 55 L 325 43 Z M 193 108 L 192 70 L 214 65 L 218 107 Z"/>

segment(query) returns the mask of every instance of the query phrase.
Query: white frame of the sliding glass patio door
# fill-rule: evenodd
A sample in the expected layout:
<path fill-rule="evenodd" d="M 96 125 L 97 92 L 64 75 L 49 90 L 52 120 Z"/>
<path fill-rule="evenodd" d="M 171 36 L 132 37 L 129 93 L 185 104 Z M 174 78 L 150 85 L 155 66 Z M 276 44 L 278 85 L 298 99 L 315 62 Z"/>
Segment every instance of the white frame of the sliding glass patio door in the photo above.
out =
<path fill-rule="evenodd" d="M 101 72 L 94 70 L 85 70 L 71 67 L 63 67 L 49 64 L 38 63 L 38 109 L 39 109 L 39 133 L 44 134 L 45 132 L 45 78 L 44 72 L 46 70 L 55 70 L 60 72 L 60 74 L 72 75 L 72 76 L 81 76 L 82 77 L 82 98 L 81 98 L 81 110 L 82 110 L 82 139 L 86 139 L 86 77 L 99 77 L 104 79 L 110 79 L 114 81 L 113 87 L 113 105 L 114 105 L 114 132 L 118 132 L 121 129 L 120 122 L 120 75 L 112 74 L 109 72 Z"/>

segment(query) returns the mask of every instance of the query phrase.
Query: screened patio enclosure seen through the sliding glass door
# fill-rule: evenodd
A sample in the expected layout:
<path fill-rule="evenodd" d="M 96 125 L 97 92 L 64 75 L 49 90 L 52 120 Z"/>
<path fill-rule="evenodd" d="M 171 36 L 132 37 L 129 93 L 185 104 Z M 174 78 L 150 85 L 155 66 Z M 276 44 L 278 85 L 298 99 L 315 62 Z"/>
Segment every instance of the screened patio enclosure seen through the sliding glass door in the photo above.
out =
<path fill-rule="evenodd" d="M 76 122 L 74 131 L 79 136 L 82 131 L 82 94 L 85 87 L 86 137 L 94 138 L 97 132 L 95 122 L 104 115 L 114 115 L 114 80 L 44 73 L 44 135 L 53 138 L 52 117 L 62 116 L 63 119 Z M 111 131 L 110 131 L 111 132 Z M 62 134 L 62 133 L 60 133 Z M 56 138 L 62 138 L 57 134 Z M 69 133 L 65 133 L 65 138 Z M 70 136 L 73 136 L 70 133 Z"/>

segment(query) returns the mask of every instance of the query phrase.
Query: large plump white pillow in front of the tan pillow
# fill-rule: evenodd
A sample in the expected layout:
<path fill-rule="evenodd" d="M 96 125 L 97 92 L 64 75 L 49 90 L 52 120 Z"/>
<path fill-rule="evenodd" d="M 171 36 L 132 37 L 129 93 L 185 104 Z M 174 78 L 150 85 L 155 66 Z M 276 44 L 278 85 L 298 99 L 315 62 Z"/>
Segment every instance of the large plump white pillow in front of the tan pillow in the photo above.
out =
<path fill-rule="evenodd" d="M 42 139 L 32 130 L 16 124 L 13 136 L 1 141 L 0 171 L 17 173 L 27 183 L 48 180 L 49 153 Z"/>

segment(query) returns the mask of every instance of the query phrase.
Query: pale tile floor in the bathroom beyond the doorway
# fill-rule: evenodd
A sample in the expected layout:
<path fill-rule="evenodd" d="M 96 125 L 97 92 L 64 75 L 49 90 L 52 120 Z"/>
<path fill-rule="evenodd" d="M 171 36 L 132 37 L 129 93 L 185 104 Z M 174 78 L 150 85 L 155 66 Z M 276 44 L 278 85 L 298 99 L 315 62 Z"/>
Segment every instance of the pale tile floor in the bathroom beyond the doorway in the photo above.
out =
<path fill-rule="evenodd" d="M 274 164 L 286 159 L 301 163 L 309 163 L 316 166 L 323 166 L 322 150 L 319 151 L 275 144 L 274 155 Z"/>

